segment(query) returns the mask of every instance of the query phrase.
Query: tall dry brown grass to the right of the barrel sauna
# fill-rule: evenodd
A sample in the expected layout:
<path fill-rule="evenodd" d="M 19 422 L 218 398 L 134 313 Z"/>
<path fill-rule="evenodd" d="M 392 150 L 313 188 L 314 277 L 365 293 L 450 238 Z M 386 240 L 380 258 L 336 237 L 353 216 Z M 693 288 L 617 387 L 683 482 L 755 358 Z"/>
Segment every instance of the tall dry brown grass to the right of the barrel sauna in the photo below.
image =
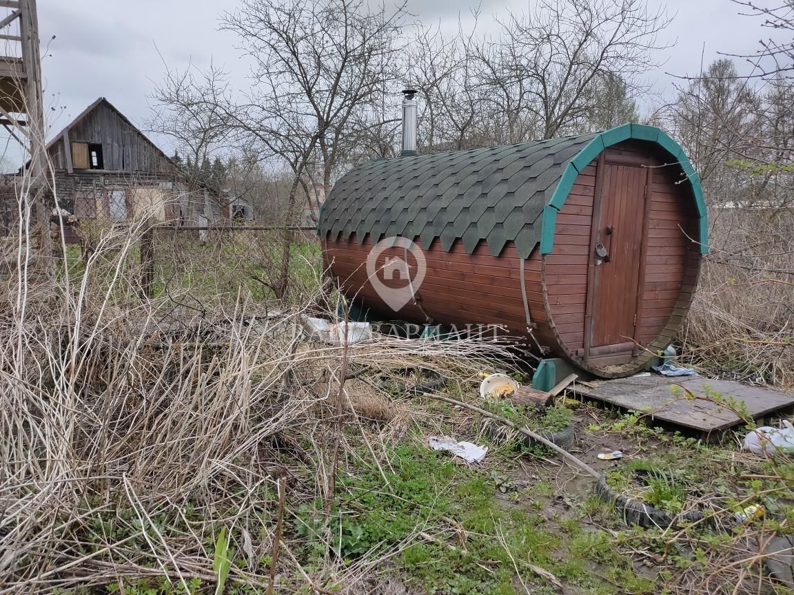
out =
<path fill-rule="evenodd" d="M 712 213 L 711 254 L 682 336 L 684 362 L 730 379 L 794 385 L 794 217 Z"/>

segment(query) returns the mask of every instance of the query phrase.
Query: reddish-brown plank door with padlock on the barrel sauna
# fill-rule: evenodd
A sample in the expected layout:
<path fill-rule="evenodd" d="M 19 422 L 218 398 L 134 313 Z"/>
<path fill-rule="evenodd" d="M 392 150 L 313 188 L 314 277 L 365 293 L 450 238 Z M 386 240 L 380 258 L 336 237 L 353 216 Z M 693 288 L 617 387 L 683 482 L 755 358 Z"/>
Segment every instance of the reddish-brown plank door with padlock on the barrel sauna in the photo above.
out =
<path fill-rule="evenodd" d="M 591 253 L 592 315 L 589 355 L 611 363 L 634 351 L 638 294 L 644 271 L 648 168 L 602 162 L 596 190 Z M 600 347 L 600 349 L 599 349 Z"/>

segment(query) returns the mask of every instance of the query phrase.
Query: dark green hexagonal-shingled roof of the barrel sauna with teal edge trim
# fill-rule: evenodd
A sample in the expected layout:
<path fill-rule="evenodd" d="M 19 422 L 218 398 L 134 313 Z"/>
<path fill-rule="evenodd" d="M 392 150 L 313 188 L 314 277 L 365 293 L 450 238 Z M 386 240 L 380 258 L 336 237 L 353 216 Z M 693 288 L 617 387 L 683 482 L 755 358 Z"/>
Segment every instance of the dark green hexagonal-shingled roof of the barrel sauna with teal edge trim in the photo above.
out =
<path fill-rule="evenodd" d="M 518 255 L 528 258 L 538 243 L 543 252 L 551 251 L 553 215 L 578 171 L 605 146 L 627 138 L 654 140 L 676 159 L 686 159 L 677 144 L 669 140 L 674 147 L 667 146 L 660 135 L 669 140 L 658 129 L 624 125 L 583 136 L 376 159 L 354 167 L 333 186 L 318 232 L 345 241 L 356 234 L 359 242 L 368 233 L 373 240 L 418 236 L 425 247 L 438 237 L 445 251 L 461 238 L 468 253 L 486 240 L 494 256 L 514 242 Z"/>

